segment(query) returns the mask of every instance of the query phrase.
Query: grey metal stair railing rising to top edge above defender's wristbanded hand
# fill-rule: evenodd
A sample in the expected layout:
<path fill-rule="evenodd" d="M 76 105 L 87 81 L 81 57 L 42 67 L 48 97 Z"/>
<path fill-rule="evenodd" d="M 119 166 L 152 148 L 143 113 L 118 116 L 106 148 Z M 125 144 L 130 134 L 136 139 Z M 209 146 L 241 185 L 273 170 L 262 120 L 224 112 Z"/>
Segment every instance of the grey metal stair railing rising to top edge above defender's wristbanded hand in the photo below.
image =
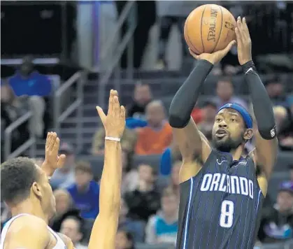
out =
<path fill-rule="evenodd" d="M 122 25 L 124 22 L 127 22 L 127 31 L 125 32 L 124 36 L 119 38 L 120 36 L 120 29 L 122 29 Z M 101 75 L 99 80 L 99 105 L 103 108 L 105 107 L 105 97 L 106 97 L 106 85 L 110 80 L 110 77 L 115 74 L 115 89 L 119 92 L 120 84 L 118 81 L 120 67 L 118 66 L 120 62 L 120 58 L 122 54 L 127 48 L 127 77 L 133 77 L 133 53 L 134 53 L 134 30 L 136 29 L 136 2 L 135 1 L 128 1 L 127 4 L 124 6 L 120 17 L 117 20 L 117 24 L 115 26 L 114 31 L 112 32 L 113 36 L 110 36 L 107 41 L 106 48 L 103 48 L 101 51 L 101 57 L 99 59 L 99 73 Z M 116 45 L 116 41 L 118 38 L 118 45 Z M 113 58 L 110 60 L 107 58 L 108 55 L 112 54 L 113 48 L 115 49 L 115 54 Z M 106 64 L 106 61 L 109 61 Z M 103 70 L 106 69 L 106 70 Z"/>

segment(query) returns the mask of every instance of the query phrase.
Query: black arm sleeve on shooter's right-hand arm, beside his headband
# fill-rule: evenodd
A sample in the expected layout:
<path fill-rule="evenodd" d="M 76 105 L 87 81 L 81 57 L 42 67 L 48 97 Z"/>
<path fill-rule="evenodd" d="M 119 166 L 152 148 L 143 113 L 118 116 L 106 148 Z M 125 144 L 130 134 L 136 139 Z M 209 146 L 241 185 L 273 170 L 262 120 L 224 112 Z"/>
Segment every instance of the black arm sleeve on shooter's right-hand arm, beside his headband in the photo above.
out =
<path fill-rule="evenodd" d="M 243 73 L 245 73 L 245 81 L 248 83 L 250 97 L 252 100 L 255 119 L 257 120 L 257 128 L 262 138 L 270 140 L 276 137 L 276 122 L 273 115 L 273 107 L 266 88 L 262 84 L 255 69 L 255 64 L 250 61 L 242 65 Z"/>

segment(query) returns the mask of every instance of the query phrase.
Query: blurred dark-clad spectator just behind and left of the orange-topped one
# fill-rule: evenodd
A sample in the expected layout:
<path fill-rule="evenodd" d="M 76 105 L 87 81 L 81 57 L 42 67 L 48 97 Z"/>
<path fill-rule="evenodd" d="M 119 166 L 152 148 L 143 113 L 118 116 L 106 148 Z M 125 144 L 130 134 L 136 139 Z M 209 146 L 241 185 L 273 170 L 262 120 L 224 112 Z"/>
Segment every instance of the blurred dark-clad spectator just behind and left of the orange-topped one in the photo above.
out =
<path fill-rule="evenodd" d="M 134 103 L 129 106 L 129 117 L 144 118 L 145 108 L 152 101 L 152 92 L 148 84 L 136 83 Z"/>

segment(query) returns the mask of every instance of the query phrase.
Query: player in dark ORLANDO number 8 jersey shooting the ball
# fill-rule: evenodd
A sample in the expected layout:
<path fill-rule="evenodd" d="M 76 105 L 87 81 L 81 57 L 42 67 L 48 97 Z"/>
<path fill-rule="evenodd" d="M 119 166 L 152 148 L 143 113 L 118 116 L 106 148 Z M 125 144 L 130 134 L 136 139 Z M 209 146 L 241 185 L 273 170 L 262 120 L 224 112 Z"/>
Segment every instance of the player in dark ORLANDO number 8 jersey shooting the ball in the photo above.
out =
<path fill-rule="evenodd" d="M 190 118 L 203 82 L 227 48 L 199 59 L 170 107 L 170 125 L 183 156 L 177 248 L 253 248 L 262 202 L 276 161 L 278 141 L 273 109 L 252 62 L 245 18 L 235 29 L 238 60 L 250 89 L 258 131 L 255 150 L 242 157 L 252 138 L 252 118 L 238 104 L 225 104 L 215 117 L 213 147 Z M 256 166 L 261 173 L 257 176 Z"/>

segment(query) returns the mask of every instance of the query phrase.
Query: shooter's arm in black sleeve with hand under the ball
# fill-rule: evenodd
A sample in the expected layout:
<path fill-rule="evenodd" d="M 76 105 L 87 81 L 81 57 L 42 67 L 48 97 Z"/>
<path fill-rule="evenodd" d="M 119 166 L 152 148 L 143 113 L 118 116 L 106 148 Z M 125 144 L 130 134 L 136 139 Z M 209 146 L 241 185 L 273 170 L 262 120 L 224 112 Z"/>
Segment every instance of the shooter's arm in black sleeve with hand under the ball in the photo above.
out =
<path fill-rule="evenodd" d="M 195 176 L 201 169 L 201 165 L 206 162 L 208 155 L 210 155 L 210 145 L 206 137 L 197 129 L 190 115 L 199 98 L 208 73 L 213 69 L 215 63 L 220 62 L 222 57 L 227 55 L 232 45 L 234 45 L 234 41 L 229 43 L 224 50 L 213 54 L 195 55 L 190 50 L 192 56 L 195 59 L 199 59 L 199 61 L 176 93 L 169 110 L 169 123 L 173 127 L 175 141 L 178 143 L 183 157 L 183 166 L 180 169 L 181 183 Z"/>

